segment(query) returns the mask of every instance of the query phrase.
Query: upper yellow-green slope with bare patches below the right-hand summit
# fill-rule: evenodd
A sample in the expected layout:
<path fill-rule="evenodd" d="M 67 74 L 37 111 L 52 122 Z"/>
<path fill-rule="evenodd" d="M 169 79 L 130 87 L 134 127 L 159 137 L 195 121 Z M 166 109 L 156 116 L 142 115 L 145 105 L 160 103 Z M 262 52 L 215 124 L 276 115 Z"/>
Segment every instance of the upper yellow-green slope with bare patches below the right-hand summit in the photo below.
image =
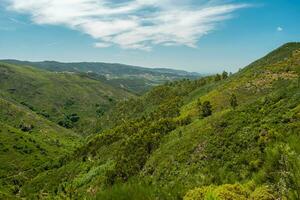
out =
<path fill-rule="evenodd" d="M 298 84 L 300 72 L 300 43 L 288 43 L 234 74 L 216 89 L 206 94 L 194 93 L 194 101 L 183 107 L 182 113 L 196 113 L 196 103 L 209 100 L 215 111 L 230 107 L 230 97 L 237 96 L 239 104 L 247 104 L 278 89 L 281 83 Z M 199 88 L 201 91 L 201 88 Z M 192 100 L 192 99 L 191 99 Z"/>

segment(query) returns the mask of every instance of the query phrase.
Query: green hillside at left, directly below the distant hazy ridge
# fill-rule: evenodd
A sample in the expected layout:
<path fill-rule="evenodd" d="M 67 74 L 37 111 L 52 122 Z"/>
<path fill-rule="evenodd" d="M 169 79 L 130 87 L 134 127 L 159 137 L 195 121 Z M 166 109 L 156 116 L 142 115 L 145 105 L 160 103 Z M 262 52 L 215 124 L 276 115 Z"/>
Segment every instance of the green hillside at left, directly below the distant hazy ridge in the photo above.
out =
<path fill-rule="evenodd" d="M 0 97 L 82 135 L 94 133 L 96 119 L 117 101 L 133 96 L 85 74 L 0 64 Z"/>

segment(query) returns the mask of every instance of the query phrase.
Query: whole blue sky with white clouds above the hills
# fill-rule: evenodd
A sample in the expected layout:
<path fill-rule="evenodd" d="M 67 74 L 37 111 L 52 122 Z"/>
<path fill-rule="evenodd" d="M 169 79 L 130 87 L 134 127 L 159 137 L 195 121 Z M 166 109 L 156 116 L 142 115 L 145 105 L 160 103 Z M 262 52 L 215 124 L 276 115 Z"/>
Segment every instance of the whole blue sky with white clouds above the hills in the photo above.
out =
<path fill-rule="evenodd" d="M 300 41 L 300 0 L 0 0 L 0 59 L 235 72 Z"/>

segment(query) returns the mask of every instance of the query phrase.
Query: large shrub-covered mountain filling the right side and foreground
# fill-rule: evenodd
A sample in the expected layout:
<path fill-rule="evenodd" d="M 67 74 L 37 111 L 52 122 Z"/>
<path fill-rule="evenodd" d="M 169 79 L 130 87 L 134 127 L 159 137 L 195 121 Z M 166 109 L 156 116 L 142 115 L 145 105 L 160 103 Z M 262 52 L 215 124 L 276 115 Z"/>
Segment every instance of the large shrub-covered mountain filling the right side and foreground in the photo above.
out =
<path fill-rule="evenodd" d="M 168 82 L 119 101 L 97 126 L 34 177 L 1 179 L 0 191 L 27 199 L 299 199 L 300 43 L 230 76 Z"/>

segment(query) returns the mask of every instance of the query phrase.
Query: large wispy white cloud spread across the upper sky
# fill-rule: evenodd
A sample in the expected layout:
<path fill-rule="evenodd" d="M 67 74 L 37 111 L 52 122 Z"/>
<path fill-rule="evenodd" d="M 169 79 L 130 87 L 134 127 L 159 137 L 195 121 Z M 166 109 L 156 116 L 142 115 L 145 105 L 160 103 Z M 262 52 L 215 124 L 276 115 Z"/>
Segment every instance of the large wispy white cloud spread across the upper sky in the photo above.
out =
<path fill-rule="evenodd" d="M 61 25 L 95 38 L 95 47 L 119 45 L 149 50 L 154 45 L 196 47 L 246 4 L 192 4 L 191 0 L 6 0 L 34 23 Z M 121 3 L 120 3 L 121 2 Z"/>

